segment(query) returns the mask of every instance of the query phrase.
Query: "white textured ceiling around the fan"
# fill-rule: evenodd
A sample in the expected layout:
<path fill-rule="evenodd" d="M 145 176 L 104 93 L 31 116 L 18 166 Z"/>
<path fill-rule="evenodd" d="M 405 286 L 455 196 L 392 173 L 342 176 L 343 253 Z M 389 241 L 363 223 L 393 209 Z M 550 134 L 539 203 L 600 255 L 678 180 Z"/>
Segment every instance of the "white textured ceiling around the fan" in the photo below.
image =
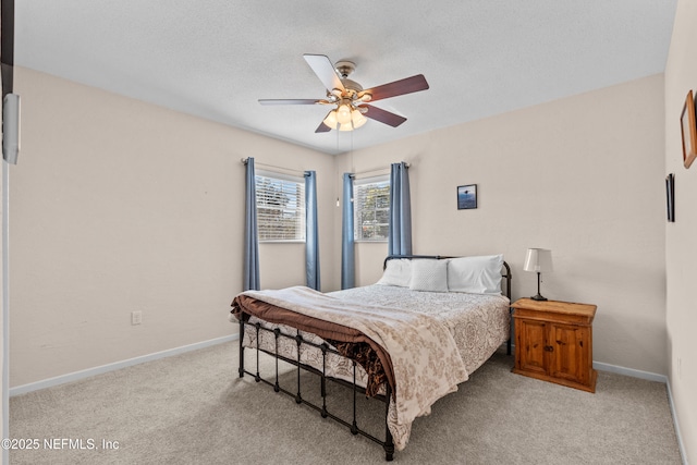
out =
<path fill-rule="evenodd" d="M 676 0 L 22 0 L 16 65 L 327 154 L 358 149 L 661 73 Z M 357 65 L 364 88 L 424 74 L 375 102 L 407 118 L 316 134 L 323 98 L 303 53 Z"/>

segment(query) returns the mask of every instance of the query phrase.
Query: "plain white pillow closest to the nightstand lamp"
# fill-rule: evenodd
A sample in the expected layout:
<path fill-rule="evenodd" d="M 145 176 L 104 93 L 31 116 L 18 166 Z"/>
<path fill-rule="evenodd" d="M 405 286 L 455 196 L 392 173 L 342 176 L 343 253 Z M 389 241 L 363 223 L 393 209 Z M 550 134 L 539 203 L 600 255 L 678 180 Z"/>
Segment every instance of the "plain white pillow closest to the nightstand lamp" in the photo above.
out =
<path fill-rule="evenodd" d="M 501 294 L 503 255 L 448 260 L 448 290 L 475 294 Z"/>

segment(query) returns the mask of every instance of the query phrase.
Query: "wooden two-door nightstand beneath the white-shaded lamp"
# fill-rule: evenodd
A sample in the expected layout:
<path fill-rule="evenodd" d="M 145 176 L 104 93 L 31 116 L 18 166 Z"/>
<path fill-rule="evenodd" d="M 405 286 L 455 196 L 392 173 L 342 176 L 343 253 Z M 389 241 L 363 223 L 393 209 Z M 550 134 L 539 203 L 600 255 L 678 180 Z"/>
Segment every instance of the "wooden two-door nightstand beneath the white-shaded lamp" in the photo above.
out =
<path fill-rule="evenodd" d="M 511 305 L 515 322 L 513 372 L 596 392 L 592 319 L 596 306 L 521 298 Z"/>

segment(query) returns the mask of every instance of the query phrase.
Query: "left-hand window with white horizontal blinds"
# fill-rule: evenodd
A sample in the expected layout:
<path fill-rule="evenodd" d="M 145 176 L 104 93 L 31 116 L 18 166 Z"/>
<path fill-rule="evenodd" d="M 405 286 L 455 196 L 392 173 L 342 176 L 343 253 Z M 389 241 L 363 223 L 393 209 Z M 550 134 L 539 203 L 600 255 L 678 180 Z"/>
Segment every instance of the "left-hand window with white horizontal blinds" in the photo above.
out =
<path fill-rule="evenodd" d="M 259 241 L 305 241 L 305 179 L 257 171 Z"/>

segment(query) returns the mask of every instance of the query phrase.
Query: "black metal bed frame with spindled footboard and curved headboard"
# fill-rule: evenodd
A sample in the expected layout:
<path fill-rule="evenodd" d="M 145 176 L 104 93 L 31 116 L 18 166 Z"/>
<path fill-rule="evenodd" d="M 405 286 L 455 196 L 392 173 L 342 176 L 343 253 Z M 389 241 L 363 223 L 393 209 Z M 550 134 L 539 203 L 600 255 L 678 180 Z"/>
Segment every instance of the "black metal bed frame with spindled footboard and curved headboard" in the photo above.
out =
<path fill-rule="evenodd" d="M 456 257 L 444 257 L 444 256 L 440 256 L 440 255 L 391 255 L 388 256 L 384 259 L 384 262 L 382 265 L 382 268 L 387 268 L 387 264 L 388 260 L 391 259 L 400 259 L 400 258 L 408 258 L 408 259 L 420 259 L 420 258 L 429 258 L 429 259 L 445 259 L 445 258 L 456 258 Z M 505 261 L 503 262 L 503 266 L 505 268 L 505 273 L 501 274 L 502 278 L 505 279 L 506 285 L 505 285 L 505 295 L 509 297 L 509 301 L 511 301 L 511 268 L 509 267 L 509 264 L 506 264 Z M 510 308 L 509 308 L 510 311 Z M 256 382 L 264 382 L 268 386 L 273 387 L 273 390 L 276 392 L 282 392 L 284 394 L 290 395 L 291 397 L 295 399 L 295 403 L 296 404 L 305 404 L 307 406 L 309 406 L 310 408 L 316 409 L 317 412 L 320 413 L 322 418 L 331 418 L 335 421 L 338 421 L 339 424 L 347 427 L 351 430 L 352 435 L 362 435 L 368 439 L 370 439 L 374 442 L 377 442 L 378 444 L 382 445 L 382 449 L 384 450 L 384 460 L 388 462 L 391 462 L 394 458 L 394 442 L 392 439 L 392 433 L 390 432 L 390 429 L 388 428 L 388 412 L 389 412 L 389 406 L 390 406 L 390 397 L 392 396 L 392 389 L 390 387 L 389 382 L 384 382 L 384 394 L 377 394 L 375 395 L 372 399 L 377 399 L 380 402 L 384 402 L 384 440 L 376 438 L 375 436 L 370 435 L 367 431 L 364 431 L 363 429 L 360 429 L 358 427 L 358 424 L 356 421 L 356 392 L 358 390 L 362 390 L 364 388 L 360 388 L 359 386 L 356 384 L 356 360 L 352 360 L 353 363 L 353 382 L 348 382 L 348 381 L 344 381 L 342 379 L 338 379 L 338 378 L 332 378 L 332 377 L 328 377 L 326 375 L 326 367 L 327 367 L 327 354 L 331 353 L 331 354 L 337 354 L 337 355 L 341 355 L 338 351 L 335 351 L 334 348 L 332 348 L 329 344 L 327 343 L 322 343 L 322 344 L 315 344 L 310 341 L 306 341 L 299 333 L 295 334 L 295 335 L 291 335 L 291 334 L 285 334 L 283 333 L 279 328 L 276 329 L 268 329 L 268 328 L 264 328 L 261 326 L 261 323 L 256 322 L 252 326 L 254 326 L 256 328 L 256 372 L 252 372 L 249 370 L 247 370 L 245 368 L 244 365 L 244 350 L 245 347 L 242 345 L 242 342 L 244 340 L 244 327 L 245 325 L 250 325 L 250 323 L 245 323 L 245 318 L 244 318 L 244 310 L 241 309 L 241 314 L 240 314 L 240 368 L 239 368 L 239 374 L 240 374 L 240 378 L 244 378 L 245 374 L 246 375 L 250 375 L 254 377 L 254 380 Z M 276 348 L 274 352 L 269 352 L 266 351 L 261 347 L 259 347 L 259 333 L 260 331 L 267 331 L 270 333 L 273 333 L 273 338 L 274 338 L 274 342 L 276 342 Z M 284 357 L 282 355 L 279 355 L 278 353 L 278 348 L 279 348 L 279 338 L 286 338 L 290 340 L 294 340 L 295 343 L 297 344 L 297 359 L 291 359 L 288 357 Z M 306 344 L 316 348 L 319 348 L 322 353 L 322 369 L 318 370 L 317 368 L 314 368 L 311 366 L 305 365 L 303 363 L 301 363 L 301 345 Z M 269 381 L 267 379 L 261 378 L 261 376 L 259 375 L 259 352 L 264 352 L 272 357 L 276 358 L 276 380 Z M 506 341 L 506 353 L 508 355 L 511 355 L 511 338 L 509 335 L 509 340 Z M 297 367 L 297 392 L 291 392 L 284 388 L 282 388 L 279 384 L 279 360 L 283 360 L 288 364 L 294 365 L 295 367 Z M 301 374 L 302 370 L 305 371 L 309 371 L 311 374 L 315 374 L 317 376 L 320 377 L 320 395 L 322 399 L 321 405 L 316 405 L 309 401 L 307 401 L 306 399 L 303 399 L 303 395 L 301 393 Z M 345 419 L 330 413 L 327 409 L 327 381 L 333 381 L 338 384 L 344 386 L 346 388 L 350 388 L 353 391 L 353 419 L 352 421 L 346 421 Z"/>

